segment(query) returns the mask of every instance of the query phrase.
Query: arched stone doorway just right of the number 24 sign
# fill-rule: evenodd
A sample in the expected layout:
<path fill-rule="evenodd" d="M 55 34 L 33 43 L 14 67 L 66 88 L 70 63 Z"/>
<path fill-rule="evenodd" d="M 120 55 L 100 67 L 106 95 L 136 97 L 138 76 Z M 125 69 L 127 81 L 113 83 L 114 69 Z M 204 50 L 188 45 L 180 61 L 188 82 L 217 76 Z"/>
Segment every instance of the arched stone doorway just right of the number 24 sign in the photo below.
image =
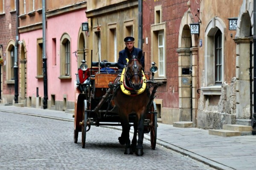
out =
<path fill-rule="evenodd" d="M 249 11 L 253 9 L 253 4 L 244 1 L 238 17 L 238 29 L 236 38 L 236 79 L 238 81 L 236 92 L 236 118 L 251 119 L 252 102 L 253 102 L 253 80 L 252 80 L 252 25 L 251 18 L 253 13 Z M 245 8 L 244 8 L 245 6 Z M 249 93 L 250 91 L 250 93 Z"/>

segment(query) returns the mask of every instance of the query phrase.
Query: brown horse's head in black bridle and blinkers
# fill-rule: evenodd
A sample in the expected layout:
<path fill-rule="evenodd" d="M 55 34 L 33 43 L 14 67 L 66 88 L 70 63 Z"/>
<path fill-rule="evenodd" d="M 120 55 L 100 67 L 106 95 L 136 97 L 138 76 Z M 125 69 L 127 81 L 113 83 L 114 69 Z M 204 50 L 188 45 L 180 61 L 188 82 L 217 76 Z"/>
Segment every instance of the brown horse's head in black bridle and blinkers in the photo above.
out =
<path fill-rule="evenodd" d="M 139 90 L 143 84 L 143 74 L 142 74 L 142 65 L 140 59 L 142 57 L 142 52 L 139 52 L 138 56 L 131 56 L 128 52 L 128 65 L 126 68 L 126 78 L 134 90 Z"/>

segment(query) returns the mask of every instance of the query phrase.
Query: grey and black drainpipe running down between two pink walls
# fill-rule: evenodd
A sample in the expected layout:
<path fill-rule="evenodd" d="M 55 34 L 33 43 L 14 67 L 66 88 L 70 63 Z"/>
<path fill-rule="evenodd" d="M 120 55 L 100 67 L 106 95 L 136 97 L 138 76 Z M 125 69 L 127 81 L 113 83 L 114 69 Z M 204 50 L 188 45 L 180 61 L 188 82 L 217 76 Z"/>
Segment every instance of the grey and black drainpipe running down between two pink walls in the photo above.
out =
<path fill-rule="evenodd" d="M 46 58 L 46 18 L 45 18 L 45 0 L 42 0 L 43 17 L 43 74 L 44 74 L 44 100 L 43 108 L 47 109 L 48 90 L 47 90 L 47 58 Z"/>

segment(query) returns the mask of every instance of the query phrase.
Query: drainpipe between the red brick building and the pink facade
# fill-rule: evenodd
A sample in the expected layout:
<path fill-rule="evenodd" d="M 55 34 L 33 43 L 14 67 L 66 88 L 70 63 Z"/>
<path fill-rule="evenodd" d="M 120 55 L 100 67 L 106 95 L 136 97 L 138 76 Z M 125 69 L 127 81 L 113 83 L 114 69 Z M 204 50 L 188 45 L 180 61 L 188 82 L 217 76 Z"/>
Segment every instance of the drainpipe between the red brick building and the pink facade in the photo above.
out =
<path fill-rule="evenodd" d="M 19 41 L 19 1 L 16 0 L 16 41 L 14 47 L 14 103 L 18 103 L 18 41 Z"/>

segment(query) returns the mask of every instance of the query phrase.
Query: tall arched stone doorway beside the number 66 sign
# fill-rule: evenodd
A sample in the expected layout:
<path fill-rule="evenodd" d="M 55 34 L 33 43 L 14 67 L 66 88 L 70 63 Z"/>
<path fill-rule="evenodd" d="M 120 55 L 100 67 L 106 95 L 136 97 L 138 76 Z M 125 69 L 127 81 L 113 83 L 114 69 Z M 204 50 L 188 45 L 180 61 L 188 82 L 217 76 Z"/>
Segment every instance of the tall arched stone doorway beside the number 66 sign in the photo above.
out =
<path fill-rule="evenodd" d="M 197 38 L 190 34 L 189 24 L 195 23 L 190 6 L 184 13 L 179 31 L 177 53 L 179 55 L 179 115 L 180 121 L 192 121 L 197 126 L 197 72 L 198 47 Z M 194 93 L 194 94 L 193 94 Z"/>

